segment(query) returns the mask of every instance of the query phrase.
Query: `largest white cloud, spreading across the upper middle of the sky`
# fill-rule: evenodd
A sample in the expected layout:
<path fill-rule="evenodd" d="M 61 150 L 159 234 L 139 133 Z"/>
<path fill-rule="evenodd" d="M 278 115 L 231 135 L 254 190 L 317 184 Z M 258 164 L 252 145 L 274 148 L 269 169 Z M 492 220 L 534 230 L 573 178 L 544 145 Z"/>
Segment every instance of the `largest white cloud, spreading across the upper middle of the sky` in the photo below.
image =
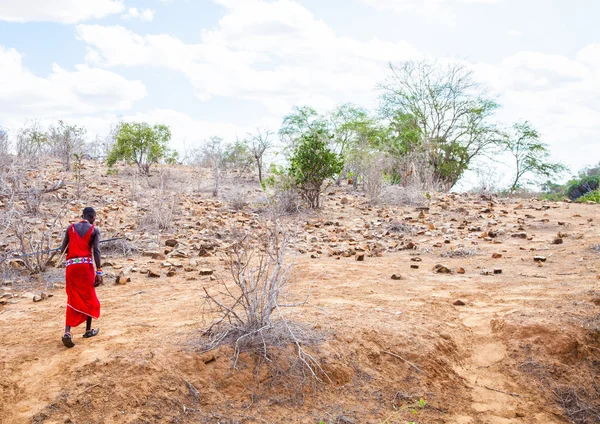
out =
<path fill-rule="evenodd" d="M 340 37 L 290 0 L 217 2 L 227 13 L 198 44 L 119 26 L 79 25 L 78 34 L 89 44 L 89 63 L 177 70 L 200 99 L 251 99 L 277 114 L 309 100 L 316 106 L 372 100 L 388 61 L 419 55 L 402 41 Z"/>

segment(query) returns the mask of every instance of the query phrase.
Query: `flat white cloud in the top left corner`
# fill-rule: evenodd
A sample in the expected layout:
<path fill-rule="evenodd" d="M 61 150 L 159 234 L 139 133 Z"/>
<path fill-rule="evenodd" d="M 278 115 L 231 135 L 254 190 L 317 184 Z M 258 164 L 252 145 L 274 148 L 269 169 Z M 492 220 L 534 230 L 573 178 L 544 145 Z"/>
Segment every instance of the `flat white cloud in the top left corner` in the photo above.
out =
<path fill-rule="evenodd" d="M 122 0 L 2 0 L 0 21 L 72 24 L 121 13 Z"/>

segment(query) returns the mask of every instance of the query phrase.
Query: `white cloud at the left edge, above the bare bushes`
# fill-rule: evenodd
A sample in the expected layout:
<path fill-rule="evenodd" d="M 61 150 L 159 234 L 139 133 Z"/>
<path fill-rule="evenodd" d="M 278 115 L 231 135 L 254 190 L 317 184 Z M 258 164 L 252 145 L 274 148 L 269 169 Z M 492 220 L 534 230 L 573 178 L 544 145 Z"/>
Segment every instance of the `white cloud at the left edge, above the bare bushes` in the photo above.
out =
<path fill-rule="evenodd" d="M 14 49 L 0 46 L 0 115 L 12 117 L 93 114 L 131 108 L 146 95 L 139 81 L 129 81 L 114 72 L 77 65 L 68 71 L 57 64 L 43 78 L 22 63 Z"/>

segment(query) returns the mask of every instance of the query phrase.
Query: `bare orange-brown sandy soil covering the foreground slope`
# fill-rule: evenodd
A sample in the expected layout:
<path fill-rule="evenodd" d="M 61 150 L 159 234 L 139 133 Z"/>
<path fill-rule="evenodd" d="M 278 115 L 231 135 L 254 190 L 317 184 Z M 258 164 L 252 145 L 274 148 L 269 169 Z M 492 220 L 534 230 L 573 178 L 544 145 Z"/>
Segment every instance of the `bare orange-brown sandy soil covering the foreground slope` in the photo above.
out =
<path fill-rule="evenodd" d="M 338 209 L 325 208 L 311 222 L 340 218 L 336 202 L 344 196 L 330 196 Z M 210 322 L 203 287 L 219 281 L 200 277 L 197 269 L 161 278 L 130 271 L 126 285 L 107 279 L 98 289 L 101 332 L 83 339 L 83 329 L 76 329 L 73 349 L 60 341 L 64 290 L 39 303 L 13 293 L 0 306 L 0 421 L 570 422 L 567 414 L 576 411 L 563 409 L 567 403 L 557 393 L 593 387 L 600 363 L 600 254 L 590 248 L 600 243 L 600 209 L 518 202 L 497 201 L 481 212 L 489 207 L 481 199 L 442 197 L 422 218 L 412 208 L 345 207 L 340 221 L 348 226 L 409 216 L 411 225 L 458 227 L 460 220 L 452 219 L 459 207 L 468 209 L 461 219 L 470 223 L 450 243 L 422 232 L 413 237 L 416 250 L 367 251 L 362 262 L 327 255 L 327 244 L 311 249 L 322 252 L 318 258 L 310 251 L 296 258 L 292 293 L 310 292 L 313 306 L 289 310 L 287 317 L 324 335 L 310 349 L 331 382 L 265 382 L 254 374 L 251 357 L 243 356 L 233 371 L 227 349 L 200 353 L 201 331 Z M 506 232 L 486 239 L 492 219 Z M 473 225 L 483 228 L 469 231 Z M 529 239 L 511 237 L 521 231 Z M 566 233 L 563 243 L 552 244 L 558 232 Z M 459 245 L 476 254 L 441 256 Z M 536 255 L 547 259 L 536 263 Z M 221 255 L 201 261 L 225 278 Z M 110 262 L 143 269 L 160 261 Z M 436 264 L 452 273 L 432 271 Z M 456 272 L 460 267 L 464 274 Z M 502 273 L 483 275 L 494 268 Z M 598 422 L 582 416 L 570 419 Z"/>

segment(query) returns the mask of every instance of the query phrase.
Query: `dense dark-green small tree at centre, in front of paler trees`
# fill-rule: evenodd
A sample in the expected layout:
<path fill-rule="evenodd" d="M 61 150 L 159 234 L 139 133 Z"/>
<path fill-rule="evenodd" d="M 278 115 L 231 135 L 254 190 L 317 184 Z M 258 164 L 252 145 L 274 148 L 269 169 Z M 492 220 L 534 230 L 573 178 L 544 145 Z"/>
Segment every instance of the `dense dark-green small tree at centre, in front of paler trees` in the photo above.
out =
<path fill-rule="evenodd" d="M 325 180 L 344 168 L 342 157 L 329 148 L 329 139 L 322 130 L 304 134 L 290 158 L 289 174 L 311 209 L 319 207 Z"/>

